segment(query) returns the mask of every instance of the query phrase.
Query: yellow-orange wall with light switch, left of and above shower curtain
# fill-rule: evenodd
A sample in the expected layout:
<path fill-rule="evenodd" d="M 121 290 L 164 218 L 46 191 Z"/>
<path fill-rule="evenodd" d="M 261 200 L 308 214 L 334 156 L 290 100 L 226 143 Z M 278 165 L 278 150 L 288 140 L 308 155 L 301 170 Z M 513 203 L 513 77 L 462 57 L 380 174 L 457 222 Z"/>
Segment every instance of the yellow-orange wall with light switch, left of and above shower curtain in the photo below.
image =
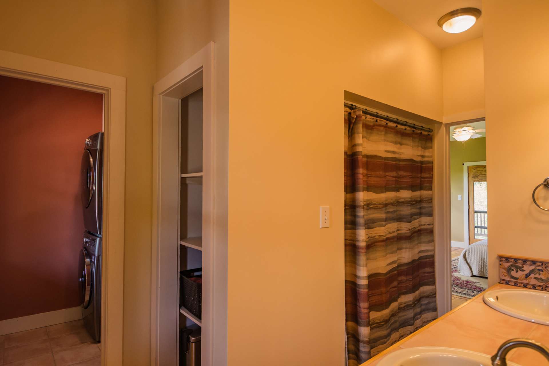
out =
<path fill-rule="evenodd" d="M 234 0 L 229 38 L 228 364 L 340 365 L 343 92 L 441 120 L 441 50 L 369 0 Z"/>

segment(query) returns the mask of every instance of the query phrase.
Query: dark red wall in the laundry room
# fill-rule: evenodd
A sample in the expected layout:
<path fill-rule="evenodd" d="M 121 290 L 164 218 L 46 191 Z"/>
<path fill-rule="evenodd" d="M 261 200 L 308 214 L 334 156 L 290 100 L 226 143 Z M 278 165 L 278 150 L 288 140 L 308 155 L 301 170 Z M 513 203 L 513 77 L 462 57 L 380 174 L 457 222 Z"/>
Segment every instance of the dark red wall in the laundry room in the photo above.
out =
<path fill-rule="evenodd" d="M 0 320 L 80 305 L 80 161 L 103 95 L 0 76 Z"/>

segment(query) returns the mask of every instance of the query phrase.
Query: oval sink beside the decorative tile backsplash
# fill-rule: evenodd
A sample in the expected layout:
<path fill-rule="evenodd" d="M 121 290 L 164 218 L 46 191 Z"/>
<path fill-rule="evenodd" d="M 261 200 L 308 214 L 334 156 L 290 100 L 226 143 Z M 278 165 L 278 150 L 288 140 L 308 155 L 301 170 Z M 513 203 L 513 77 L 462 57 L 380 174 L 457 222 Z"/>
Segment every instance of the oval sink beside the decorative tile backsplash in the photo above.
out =
<path fill-rule="evenodd" d="M 486 305 L 503 314 L 549 325 L 549 292 L 536 290 L 491 290 L 483 297 Z"/>

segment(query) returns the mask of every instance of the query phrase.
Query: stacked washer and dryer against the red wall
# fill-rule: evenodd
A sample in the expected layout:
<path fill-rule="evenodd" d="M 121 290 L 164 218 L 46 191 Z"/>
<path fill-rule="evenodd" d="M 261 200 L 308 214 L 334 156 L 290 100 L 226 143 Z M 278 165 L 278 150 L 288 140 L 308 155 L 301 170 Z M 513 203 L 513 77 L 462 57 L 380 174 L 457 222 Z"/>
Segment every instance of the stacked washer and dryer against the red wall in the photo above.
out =
<path fill-rule="evenodd" d="M 94 340 L 101 336 L 101 237 L 103 227 L 103 132 L 88 137 L 82 155 L 84 238 L 79 281 L 84 325 Z"/>

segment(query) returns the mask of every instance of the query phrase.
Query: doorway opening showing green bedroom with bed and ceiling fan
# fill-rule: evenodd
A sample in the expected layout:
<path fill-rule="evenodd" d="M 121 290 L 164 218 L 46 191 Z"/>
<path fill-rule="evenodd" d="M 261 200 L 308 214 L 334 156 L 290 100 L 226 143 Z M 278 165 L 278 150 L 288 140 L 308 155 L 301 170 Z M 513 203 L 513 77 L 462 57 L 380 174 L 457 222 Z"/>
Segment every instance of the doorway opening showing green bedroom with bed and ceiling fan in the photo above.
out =
<path fill-rule="evenodd" d="M 457 123 L 450 137 L 452 308 L 488 288 L 488 180 L 484 121 Z"/>

